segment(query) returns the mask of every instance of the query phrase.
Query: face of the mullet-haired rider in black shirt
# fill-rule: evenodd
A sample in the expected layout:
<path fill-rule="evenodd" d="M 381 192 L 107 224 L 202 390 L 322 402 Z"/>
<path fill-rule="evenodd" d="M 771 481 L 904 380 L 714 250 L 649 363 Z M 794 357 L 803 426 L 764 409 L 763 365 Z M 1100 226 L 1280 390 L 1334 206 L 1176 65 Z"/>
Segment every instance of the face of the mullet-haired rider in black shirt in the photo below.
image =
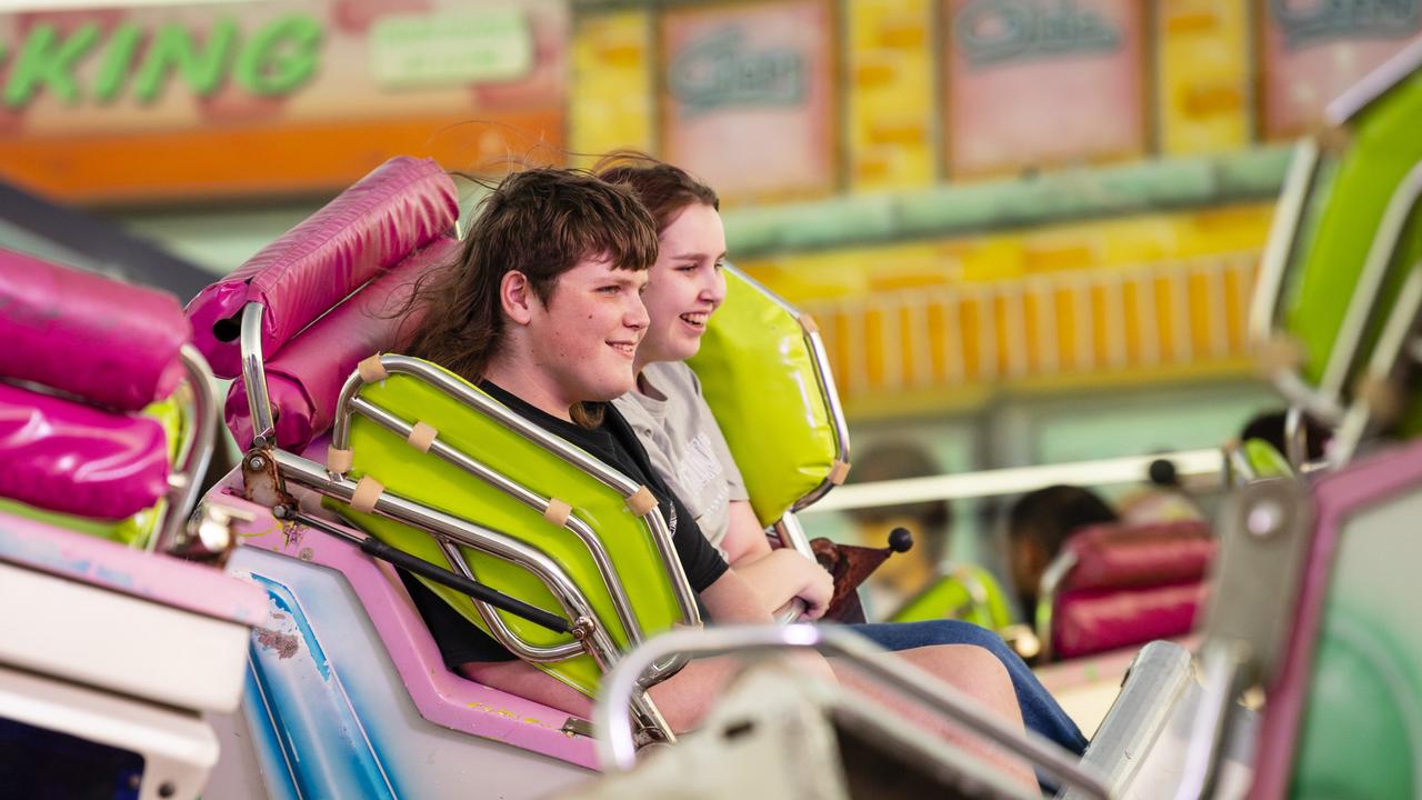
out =
<path fill-rule="evenodd" d="M 647 330 L 647 273 L 583 259 L 557 278 L 547 305 L 529 306 L 532 367 L 549 394 L 574 403 L 611 400 L 633 389 L 633 359 Z"/>

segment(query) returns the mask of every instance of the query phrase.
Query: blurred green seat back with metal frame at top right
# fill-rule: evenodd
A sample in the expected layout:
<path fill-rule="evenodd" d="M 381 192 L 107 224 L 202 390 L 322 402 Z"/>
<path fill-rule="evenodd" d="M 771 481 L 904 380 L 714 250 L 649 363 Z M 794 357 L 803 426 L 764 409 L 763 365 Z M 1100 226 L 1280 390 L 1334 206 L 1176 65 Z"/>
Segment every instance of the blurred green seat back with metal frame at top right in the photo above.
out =
<path fill-rule="evenodd" d="M 1288 278 L 1280 285 L 1277 325 L 1301 344 L 1300 376 L 1325 394 L 1354 389 L 1408 270 L 1422 259 L 1422 208 L 1413 206 L 1386 272 L 1376 285 L 1364 278 L 1385 211 L 1422 162 L 1419 131 L 1422 71 L 1413 71 L 1348 120 L 1345 144 L 1321 148 L 1307 186 Z M 1310 158 L 1311 152 L 1308 145 L 1300 158 Z M 1355 295 L 1371 300 L 1372 313 L 1361 329 L 1355 353 L 1347 357 L 1345 317 Z M 1335 362 L 1332 367 L 1330 362 Z"/>

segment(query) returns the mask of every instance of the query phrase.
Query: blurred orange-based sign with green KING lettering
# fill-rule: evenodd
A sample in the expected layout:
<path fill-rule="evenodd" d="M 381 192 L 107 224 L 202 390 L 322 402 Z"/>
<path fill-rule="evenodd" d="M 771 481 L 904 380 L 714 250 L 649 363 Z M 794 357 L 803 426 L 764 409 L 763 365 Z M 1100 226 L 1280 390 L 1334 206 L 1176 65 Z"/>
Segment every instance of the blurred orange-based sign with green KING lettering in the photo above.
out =
<path fill-rule="evenodd" d="M 0 175 L 73 201 L 478 168 L 562 147 L 557 0 L 297 0 L 0 16 Z"/>

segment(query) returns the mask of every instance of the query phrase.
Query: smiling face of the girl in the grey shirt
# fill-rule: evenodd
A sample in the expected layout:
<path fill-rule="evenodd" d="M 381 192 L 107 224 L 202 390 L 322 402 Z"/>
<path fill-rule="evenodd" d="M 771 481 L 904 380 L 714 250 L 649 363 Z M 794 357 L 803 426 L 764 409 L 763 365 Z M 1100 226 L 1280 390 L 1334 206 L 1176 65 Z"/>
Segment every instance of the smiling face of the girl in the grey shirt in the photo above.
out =
<path fill-rule="evenodd" d="M 725 300 L 725 228 L 702 204 L 688 205 L 657 239 L 657 263 L 643 295 L 651 323 L 638 364 L 681 362 L 701 349 L 707 320 Z"/>

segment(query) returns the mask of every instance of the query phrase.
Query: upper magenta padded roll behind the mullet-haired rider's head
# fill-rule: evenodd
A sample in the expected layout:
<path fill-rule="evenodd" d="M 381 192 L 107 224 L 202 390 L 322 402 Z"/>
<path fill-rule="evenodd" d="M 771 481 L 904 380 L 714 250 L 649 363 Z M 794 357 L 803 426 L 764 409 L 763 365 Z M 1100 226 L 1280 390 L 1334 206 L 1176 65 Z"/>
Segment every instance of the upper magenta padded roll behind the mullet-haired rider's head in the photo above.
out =
<path fill-rule="evenodd" d="M 398 157 L 267 245 L 188 303 L 193 343 L 220 377 L 242 372 L 240 312 L 266 306 L 262 354 L 276 356 L 311 323 L 378 272 L 454 226 L 454 181 L 429 159 Z"/>

